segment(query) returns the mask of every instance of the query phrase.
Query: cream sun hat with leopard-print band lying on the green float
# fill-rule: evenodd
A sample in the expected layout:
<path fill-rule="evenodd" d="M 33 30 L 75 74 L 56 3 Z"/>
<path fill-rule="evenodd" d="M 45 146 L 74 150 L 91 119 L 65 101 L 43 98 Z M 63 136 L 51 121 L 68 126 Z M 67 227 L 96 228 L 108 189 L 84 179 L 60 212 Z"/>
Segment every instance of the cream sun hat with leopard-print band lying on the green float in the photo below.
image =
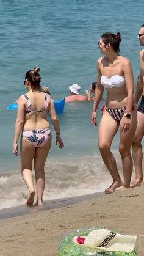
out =
<path fill-rule="evenodd" d="M 79 244 L 77 238 L 77 236 L 74 236 L 73 242 Z M 137 236 L 112 233 L 107 229 L 92 230 L 88 236 L 81 236 L 81 238 L 85 238 L 85 241 L 84 244 L 79 244 L 79 246 L 121 252 L 133 251 L 137 240 Z"/>

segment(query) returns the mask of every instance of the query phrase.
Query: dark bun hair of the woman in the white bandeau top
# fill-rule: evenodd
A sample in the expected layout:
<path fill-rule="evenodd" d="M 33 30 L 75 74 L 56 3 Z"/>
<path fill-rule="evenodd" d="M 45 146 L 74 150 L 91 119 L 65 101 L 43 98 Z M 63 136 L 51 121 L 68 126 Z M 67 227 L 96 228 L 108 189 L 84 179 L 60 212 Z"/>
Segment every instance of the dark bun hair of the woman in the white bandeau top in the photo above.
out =
<path fill-rule="evenodd" d="M 121 42 L 121 35 L 118 32 L 116 35 L 112 34 L 110 32 L 104 33 L 103 35 L 101 35 L 101 39 L 103 40 L 103 42 L 107 45 L 107 43 L 110 43 L 110 45 L 113 48 L 113 51 L 116 51 L 117 53 L 119 53 L 120 49 L 120 42 Z"/>

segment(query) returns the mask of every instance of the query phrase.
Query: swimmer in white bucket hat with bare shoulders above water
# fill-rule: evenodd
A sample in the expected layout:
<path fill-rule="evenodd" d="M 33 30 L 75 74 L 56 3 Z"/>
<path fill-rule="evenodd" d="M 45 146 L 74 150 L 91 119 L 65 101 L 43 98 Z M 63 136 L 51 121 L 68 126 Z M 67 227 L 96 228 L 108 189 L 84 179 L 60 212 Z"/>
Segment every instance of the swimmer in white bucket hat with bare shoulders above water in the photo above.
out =
<path fill-rule="evenodd" d="M 70 96 L 65 97 L 65 102 L 74 102 L 74 101 L 87 101 L 86 95 L 80 95 L 81 86 L 79 84 L 72 84 L 72 86 L 69 87 Z"/>

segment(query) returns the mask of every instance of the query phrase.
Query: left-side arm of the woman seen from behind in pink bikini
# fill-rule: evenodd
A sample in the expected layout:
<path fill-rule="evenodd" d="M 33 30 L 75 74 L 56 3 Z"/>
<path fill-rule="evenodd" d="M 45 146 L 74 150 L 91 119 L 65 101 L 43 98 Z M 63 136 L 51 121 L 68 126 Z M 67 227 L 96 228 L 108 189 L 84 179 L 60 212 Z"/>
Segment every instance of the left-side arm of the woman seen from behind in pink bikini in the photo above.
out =
<path fill-rule="evenodd" d="M 18 156 L 18 138 L 20 136 L 20 133 L 23 129 L 24 125 L 24 100 L 22 97 L 18 99 L 18 111 L 17 111 L 17 117 L 15 122 L 15 135 L 13 139 L 13 154 Z"/>

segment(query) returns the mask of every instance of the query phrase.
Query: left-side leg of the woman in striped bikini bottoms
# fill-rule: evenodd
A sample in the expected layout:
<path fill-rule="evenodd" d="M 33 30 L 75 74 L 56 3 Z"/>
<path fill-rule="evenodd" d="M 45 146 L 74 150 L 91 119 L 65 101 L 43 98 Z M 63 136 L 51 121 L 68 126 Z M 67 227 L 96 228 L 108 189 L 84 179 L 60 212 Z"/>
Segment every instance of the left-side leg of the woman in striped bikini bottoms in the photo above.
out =
<path fill-rule="evenodd" d="M 98 145 L 104 164 L 106 164 L 106 167 L 113 179 L 112 185 L 110 185 L 110 187 L 105 190 L 106 194 L 114 192 L 116 188 L 122 186 L 123 184 L 120 175 L 118 174 L 115 158 L 110 151 L 112 139 L 118 131 L 118 126 L 119 124 L 105 110 L 99 125 Z"/>

